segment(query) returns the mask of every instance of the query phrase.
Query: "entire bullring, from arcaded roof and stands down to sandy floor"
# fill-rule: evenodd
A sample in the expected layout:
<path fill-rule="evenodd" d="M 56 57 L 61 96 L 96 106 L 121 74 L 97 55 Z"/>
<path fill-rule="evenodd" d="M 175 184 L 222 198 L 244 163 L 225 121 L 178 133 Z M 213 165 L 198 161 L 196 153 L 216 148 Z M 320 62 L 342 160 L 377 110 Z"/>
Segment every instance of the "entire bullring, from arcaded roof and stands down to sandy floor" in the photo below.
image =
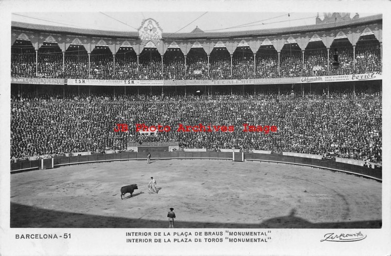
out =
<path fill-rule="evenodd" d="M 382 19 L 180 33 L 13 20 L 11 227 L 168 228 L 173 207 L 176 228 L 381 228 Z"/>

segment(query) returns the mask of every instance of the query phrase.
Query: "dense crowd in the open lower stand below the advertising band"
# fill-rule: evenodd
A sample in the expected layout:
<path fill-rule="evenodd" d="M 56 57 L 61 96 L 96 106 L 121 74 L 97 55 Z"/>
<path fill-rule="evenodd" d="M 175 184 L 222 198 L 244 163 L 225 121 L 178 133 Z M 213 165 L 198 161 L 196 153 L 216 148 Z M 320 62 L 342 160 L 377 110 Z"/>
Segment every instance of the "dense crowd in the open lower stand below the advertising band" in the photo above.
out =
<path fill-rule="evenodd" d="M 196 60 L 198 61 L 198 60 Z M 351 92 L 350 92 L 351 94 Z M 273 150 L 382 161 L 379 93 L 333 92 L 304 98 L 254 95 L 109 95 L 11 99 L 11 158 L 70 152 L 125 150 L 128 142 L 178 141 L 183 148 Z M 117 123 L 129 132 L 114 132 Z M 170 132 L 145 136 L 135 124 L 169 125 Z M 234 132 L 177 132 L 183 125 L 234 125 Z M 242 132 L 242 124 L 275 125 L 275 133 Z"/>

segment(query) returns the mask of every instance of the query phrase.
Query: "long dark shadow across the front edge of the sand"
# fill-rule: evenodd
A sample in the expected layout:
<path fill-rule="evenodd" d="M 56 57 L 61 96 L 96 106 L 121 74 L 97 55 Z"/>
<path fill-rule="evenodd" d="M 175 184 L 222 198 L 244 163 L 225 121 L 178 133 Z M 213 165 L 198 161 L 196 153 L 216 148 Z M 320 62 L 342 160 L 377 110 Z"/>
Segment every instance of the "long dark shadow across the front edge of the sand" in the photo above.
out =
<path fill-rule="evenodd" d="M 168 228 L 166 214 L 166 212 L 162 213 L 161 220 L 148 220 L 68 213 L 11 202 L 10 225 L 11 228 Z M 288 216 L 270 218 L 260 223 L 217 223 L 181 221 L 180 213 L 177 213 L 175 228 L 365 229 L 381 228 L 382 226 L 382 220 L 312 223 L 304 218 L 296 217 L 294 214 L 293 209 Z"/>

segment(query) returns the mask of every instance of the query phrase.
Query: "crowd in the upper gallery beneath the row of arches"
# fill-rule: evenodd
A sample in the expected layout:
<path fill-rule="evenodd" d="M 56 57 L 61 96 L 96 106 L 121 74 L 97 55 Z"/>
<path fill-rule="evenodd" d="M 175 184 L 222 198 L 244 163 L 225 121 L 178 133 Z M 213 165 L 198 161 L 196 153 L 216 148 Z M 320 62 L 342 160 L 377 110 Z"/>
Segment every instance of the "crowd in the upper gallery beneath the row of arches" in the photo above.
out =
<path fill-rule="evenodd" d="M 185 58 L 180 49 L 169 49 L 163 56 L 162 66 L 162 58 L 153 48 L 144 50 L 138 64 L 134 51 L 119 52 L 113 57 L 108 48 L 99 49 L 92 51 L 88 60 L 87 52 L 80 48 L 82 46 L 78 51 L 66 52 L 64 60 L 63 53 L 56 51 L 56 48 L 43 48 L 38 52 L 37 67 L 36 53 L 32 47 L 23 49 L 22 53 L 14 50 L 11 76 L 66 79 L 248 79 L 382 71 L 380 45 L 373 42 L 356 46 L 355 60 L 352 46 L 338 48 L 338 68 L 333 68 L 336 49 L 330 50 L 329 58 L 326 48 L 305 50 L 304 62 L 300 48 L 283 49 L 280 59 L 276 50 L 260 49 L 255 58 L 255 74 L 253 53 L 248 47 L 244 50 L 242 47 L 241 52 L 237 50 L 233 54 L 232 71 L 231 57 L 225 48 L 212 51 L 209 67 L 203 50 L 191 50 L 185 67 Z M 125 58 L 126 54 L 128 58 Z"/>

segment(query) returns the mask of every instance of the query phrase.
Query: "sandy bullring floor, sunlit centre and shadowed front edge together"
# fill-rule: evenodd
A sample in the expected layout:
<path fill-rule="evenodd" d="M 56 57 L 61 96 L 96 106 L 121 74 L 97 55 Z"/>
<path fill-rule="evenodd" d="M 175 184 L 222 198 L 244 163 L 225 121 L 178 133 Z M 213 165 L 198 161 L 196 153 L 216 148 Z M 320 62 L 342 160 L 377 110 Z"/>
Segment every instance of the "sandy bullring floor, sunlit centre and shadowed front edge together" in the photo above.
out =
<path fill-rule="evenodd" d="M 158 194 L 150 194 L 153 176 Z M 120 188 L 137 184 L 121 200 Z M 379 228 L 382 183 L 227 160 L 93 163 L 11 175 L 11 227 Z"/>

